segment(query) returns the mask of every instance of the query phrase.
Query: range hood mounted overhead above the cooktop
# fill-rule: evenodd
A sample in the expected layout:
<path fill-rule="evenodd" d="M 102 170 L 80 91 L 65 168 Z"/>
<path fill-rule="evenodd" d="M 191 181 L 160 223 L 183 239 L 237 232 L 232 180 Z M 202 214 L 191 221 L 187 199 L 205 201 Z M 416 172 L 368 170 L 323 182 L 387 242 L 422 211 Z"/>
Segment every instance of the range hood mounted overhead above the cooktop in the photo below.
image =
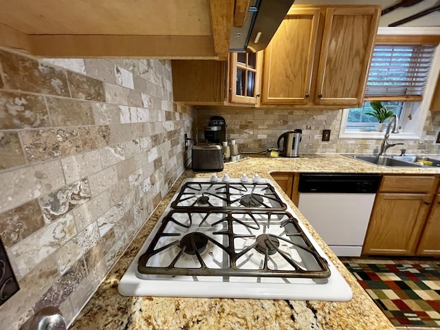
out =
<path fill-rule="evenodd" d="M 232 28 L 230 52 L 258 52 L 269 45 L 294 0 L 252 0 L 242 28 Z"/>

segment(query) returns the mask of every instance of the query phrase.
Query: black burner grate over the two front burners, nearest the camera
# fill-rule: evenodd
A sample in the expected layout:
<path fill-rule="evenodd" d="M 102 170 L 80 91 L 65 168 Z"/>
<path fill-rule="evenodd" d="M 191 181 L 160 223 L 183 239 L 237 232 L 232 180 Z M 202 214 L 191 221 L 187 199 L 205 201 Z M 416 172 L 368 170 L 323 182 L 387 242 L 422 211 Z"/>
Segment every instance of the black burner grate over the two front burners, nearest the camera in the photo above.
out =
<path fill-rule="evenodd" d="M 210 249 L 220 252 L 214 263 Z M 181 267 L 188 258 L 194 265 Z M 327 261 L 298 220 L 274 210 L 171 210 L 140 256 L 137 270 L 171 276 L 330 276 Z"/>

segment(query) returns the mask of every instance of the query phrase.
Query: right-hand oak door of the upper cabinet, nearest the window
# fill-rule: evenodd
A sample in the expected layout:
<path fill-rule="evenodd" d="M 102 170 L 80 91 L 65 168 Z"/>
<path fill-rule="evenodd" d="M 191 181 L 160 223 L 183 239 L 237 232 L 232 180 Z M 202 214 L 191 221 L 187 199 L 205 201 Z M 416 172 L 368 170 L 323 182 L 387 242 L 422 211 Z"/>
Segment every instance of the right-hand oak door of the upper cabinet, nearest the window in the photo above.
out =
<path fill-rule="evenodd" d="M 316 85 L 316 104 L 362 103 L 380 9 L 327 8 Z"/>

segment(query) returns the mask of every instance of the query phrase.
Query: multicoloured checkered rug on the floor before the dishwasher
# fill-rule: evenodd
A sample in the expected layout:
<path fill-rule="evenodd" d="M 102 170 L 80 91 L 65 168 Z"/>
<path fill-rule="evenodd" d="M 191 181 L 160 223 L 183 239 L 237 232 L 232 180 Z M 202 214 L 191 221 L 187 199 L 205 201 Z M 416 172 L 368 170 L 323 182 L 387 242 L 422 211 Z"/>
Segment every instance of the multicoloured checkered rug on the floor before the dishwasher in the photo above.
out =
<path fill-rule="evenodd" d="M 440 264 L 344 265 L 395 327 L 440 328 Z"/>

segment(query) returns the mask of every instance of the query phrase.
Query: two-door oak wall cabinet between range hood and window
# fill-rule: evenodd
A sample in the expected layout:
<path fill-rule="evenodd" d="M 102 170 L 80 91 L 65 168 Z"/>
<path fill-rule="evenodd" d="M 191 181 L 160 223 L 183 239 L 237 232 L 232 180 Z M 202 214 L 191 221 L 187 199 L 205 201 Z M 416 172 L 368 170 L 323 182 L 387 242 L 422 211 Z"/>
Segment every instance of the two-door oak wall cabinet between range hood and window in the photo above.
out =
<path fill-rule="evenodd" d="M 380 6 L 292 6 L 265 50 L 263 104 L 362 104 Z"/>

